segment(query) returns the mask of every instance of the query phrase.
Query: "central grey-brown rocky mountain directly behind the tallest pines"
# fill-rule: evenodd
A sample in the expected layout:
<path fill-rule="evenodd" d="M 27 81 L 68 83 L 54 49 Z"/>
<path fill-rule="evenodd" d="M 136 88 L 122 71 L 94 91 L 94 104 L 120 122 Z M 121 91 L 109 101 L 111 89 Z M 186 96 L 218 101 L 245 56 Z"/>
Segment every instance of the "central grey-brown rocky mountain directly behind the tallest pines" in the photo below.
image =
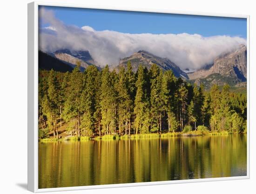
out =
<path fill-rule="evenodd" d="M 132 70 L 136 72 L 138 70 L 139 65 L 141 64 L 143 67 L 147 67 L 148 69 L 155 63 L 162 70 L 172 70 L 175 77 L 182 77 L 188 79 L 188 75 L 183 72 L 180 67 L 178 67 L 174 62 L 167 58 L 161 58 L 155 56 L 154 54 L 148 53 L 147 51 L 138 51 L 132 54 L 129 57 L 120 60 L 120 63 L 117 67 L 111 67 L 112 70 L 117 70 L 120 67 L 127 67 L 127 62 L 130 61 L 132 64 Z"/>

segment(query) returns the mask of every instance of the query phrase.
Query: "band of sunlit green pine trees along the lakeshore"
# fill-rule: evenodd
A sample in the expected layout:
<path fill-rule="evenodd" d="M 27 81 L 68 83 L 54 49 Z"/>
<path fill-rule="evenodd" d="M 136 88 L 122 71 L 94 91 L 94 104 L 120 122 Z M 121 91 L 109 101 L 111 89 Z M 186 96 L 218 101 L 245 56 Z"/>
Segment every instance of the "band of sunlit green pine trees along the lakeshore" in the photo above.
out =
<path fill-rule="evenodd" d="M 165 132 L 246 132 L 247 95 L 228 85 L 204 85 L 175 78 L 171 70 L 131 62 L 118 74 L 80 64 L 69 73 L 39 72 L 39 134 L 58 138 L 62 126 L 70 135 L 101 136 Z"/>

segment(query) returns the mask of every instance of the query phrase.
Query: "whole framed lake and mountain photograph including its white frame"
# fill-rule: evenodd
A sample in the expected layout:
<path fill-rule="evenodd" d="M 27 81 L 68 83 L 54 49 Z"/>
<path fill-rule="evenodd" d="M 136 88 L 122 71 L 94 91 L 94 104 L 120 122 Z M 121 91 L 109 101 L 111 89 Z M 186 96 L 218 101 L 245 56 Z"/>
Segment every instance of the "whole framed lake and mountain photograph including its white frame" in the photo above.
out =
<path fill-rule="evenodd" d="M 249 178 L 249 16 L 28 4 L 28 190 Z"/>

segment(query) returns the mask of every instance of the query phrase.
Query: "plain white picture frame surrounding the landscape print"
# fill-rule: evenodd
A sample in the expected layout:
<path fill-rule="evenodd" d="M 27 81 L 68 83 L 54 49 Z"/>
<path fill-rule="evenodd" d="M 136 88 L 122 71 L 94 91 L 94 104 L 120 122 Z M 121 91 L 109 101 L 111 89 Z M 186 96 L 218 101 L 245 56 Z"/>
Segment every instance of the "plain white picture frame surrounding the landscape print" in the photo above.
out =
<path fill-rule="evenodd" d="M 81 186 L 81 187 L 57 187 L 57 188 L 38 188 L 38 8 L 39 6 L 57 6 L 57 7 L 79 7 L 79 8 L 95 8 L 121 11 L 139 11 L 139 12 L 153 12 L 153 13 L 176 13 L 202 16 L 217 16 L 217 17 L 236 17 L 245 18 L 247 20 L 247 49 L 249 50 L 249 15 L 233 15 L 233 14 L 215 14 L 215 13 L 197 13 L 197 12 L 182 12 L 172 10 L 156 10 L 156 9 L 126 9 L 121 7 L 87 7 L 86 5 L 73 5 L 64 3 L 46 3 L 35 1 L 28 4 L 27 22 L 28 22 L 28 129 L 27 129 L 27 181 L 28 190 L 39 192 L 50 191 L 67 191 L 67 190 L 81 190 L 81 189 L 96 189 L 109 187 L 133 187 L 133 186 L 148 186 L 148 185 L 162 185 L 162 184 L 176 184 L 189 182 L 204 182 L 204 181 L 224 181 L 224 180 L 240 180 L 249 179 L 249 140 L 250 140 L 250 124 L 249 124 L 249 52 L 247 52 L 247 175 L 237 177 L 222 177 L 222 178 L 206 178 L 206 179 L 192 179 L 192 180 L 178 180 L 178 181 L 155 181 L 155 182 L 141 182 L 141 183 L 125 183 L 125 184 L 110 184 L 97 186 Z"/>

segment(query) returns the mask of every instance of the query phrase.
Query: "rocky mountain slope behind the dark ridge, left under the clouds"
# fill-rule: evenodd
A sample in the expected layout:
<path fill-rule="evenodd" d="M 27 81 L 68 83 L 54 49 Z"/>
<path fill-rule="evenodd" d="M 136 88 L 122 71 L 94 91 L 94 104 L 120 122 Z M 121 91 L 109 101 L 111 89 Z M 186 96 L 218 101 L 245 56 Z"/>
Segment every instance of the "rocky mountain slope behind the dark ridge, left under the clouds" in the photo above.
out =
<path fill-rule="evenodd" d="M 88 51 L 70 51 L 68 49 L 57 50 L 54 53 L 54 56 L 62 61 L 65 61 L 69 64 L 75 66 L 79 61 L 81 67 L 87 68 L 90 65 L 94 65 L 94 60 L 89 54 Z M 97 67 L 100 69 L 100 67 Z"/>

